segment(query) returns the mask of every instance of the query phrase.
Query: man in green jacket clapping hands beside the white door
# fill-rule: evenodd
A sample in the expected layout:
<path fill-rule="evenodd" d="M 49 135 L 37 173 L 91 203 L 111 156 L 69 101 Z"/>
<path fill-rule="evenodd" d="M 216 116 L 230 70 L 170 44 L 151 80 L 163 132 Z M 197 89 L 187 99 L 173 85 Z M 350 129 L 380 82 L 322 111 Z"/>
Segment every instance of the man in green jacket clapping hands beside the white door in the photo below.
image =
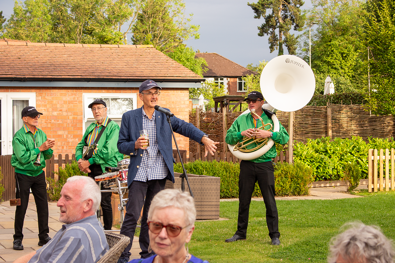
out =
<path fill-rule="evenodd" d="M 47 183 L 45 182 L 45 160 L 52 157 L 55 145 L 54 139 L 47 139 L 47 135 L 37 128 L 41 112 L 35 107 L 27 106 L 22 110 L 23 126 L 15 132 L 12 139 L 13 154 L 11 166 L 15 168 L 15 188 L 18 199 L 11 200 L 15 209 L 14 250 L 23 250 L 23 221 L 29 202 L 30 189 L 37 207 L 38 220 L 38 246 L 47 244 L 48 236 L 48 201 Z"/>

